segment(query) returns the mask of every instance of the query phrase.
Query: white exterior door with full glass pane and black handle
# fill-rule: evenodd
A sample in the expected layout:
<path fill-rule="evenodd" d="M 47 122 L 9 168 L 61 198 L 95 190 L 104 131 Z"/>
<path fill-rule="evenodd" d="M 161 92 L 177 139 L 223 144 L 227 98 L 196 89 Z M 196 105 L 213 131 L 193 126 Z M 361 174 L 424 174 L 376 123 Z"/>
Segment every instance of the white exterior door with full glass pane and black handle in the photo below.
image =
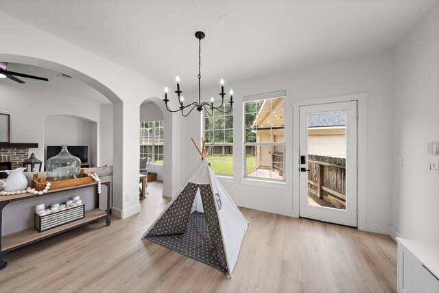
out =
<path fill-rule="evenodd" d="M 300 106 L 299 215 L 357 226 L 357 102 Z"/>

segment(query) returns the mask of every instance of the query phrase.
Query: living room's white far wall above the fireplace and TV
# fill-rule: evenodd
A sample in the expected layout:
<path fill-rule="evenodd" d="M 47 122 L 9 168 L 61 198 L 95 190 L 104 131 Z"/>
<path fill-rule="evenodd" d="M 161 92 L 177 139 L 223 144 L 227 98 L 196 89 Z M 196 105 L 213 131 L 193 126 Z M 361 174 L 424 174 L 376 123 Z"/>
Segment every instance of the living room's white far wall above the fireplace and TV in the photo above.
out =
<path fill-rule="evenodd" d="M 91 142 L 91 122 L 68 115 L 80 113 L 89 121 L 99 121 L 99 104 L 95 102 L 78 103 L 75 97 L 10 84 L 0 84 L 0 105 L 2 113 L 10 114 L 11 142 L 38 143 L 38 148 L 29 149 L 29 153 L 34 152 L 41 161 L 45 159 L 47 145 L 59 145 L 60 141 L 71 145 Z"/>

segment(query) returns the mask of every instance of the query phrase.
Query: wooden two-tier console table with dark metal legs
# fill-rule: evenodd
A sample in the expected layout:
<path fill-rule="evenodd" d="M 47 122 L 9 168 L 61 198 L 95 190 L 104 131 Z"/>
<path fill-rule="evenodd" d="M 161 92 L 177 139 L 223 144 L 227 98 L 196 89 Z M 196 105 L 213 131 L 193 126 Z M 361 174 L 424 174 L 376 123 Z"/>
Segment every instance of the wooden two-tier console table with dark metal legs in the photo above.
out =
<path fill-rule="evenodd" d="M 10 202 L 15 202 L 17 200 L 26 200 L 29 198 L 40 198 L 43 196 L 50 196 L 52 194 L 57 194 L 62 191 L 67 191 L 71 189 L 82 189 L 84 187 L 96 186 L 97 183 L 88 183 L 75 187 L 66 187 L 60 189 L 49 190 L 45 194 L 20 194 L 14 196 L 0 196 L 0 270 L 6 267 L 8 264 L 5 261 L 5 255 L 10 251 L 21 248 L 28 244 L 32 244 L 39 240 L 46 239 L 48 237 L 60 234 L 65 231 L 69 231 L 78 226 L 82 226 L 84 224 L 88 224 L 90 222 L 95 222 L 99 219 L 106 219 L 107 226 L 110 225 L 110 180 L 101 180 L 102 185 L 106 185 L 107 187 L 107 210 L 103 211 L 102 209 L 92 209 L 91 211 L 86 211 L 85 218 L 76 220 L 74 222 L 70 222 L 56 228 L 51 228 L 50 230 L 39 233 L 36 231 L 36 228 L 27 228 L 23 231 L 19 231 L 16 233 L 12 233 L 10 235 L 1 236 L 1 220 L 3 218 L 3 208 L 9 204 Z M 99 194 L 97 193 L 97 189 L 95 191 L 95 202 L 97 207 L 99 207 Z"/>

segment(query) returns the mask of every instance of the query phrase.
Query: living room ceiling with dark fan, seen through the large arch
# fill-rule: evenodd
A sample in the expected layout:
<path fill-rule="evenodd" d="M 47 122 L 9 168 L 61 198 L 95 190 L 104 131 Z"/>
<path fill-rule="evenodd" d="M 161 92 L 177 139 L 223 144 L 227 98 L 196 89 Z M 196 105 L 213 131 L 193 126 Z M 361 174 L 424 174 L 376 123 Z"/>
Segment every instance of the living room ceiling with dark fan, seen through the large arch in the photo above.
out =
<path fill-rule="evenodd" d="M 65 79 L 58 78 L 57 75 L 60 72 L 51 71 L 42 67 L 36 67 L 32 65 L 23 65 L 19 63 L 8 63 L 8 71 L 25 73 L 29 75 L 36 75 L 40 78 L 47 78 L 49 82 L 41 80 L 32 80 L 30 78 L 17 77 L 23 80 L 25 84 L 19 84 L 9 78 L 0 78 L 0 84 L 12 84 L 14 86 L 22 86 L 27 89 L 36 89 L 38 91 L 55 93 L 59 95 L 67 95 L 70 97 L 78 97 L 80 99 L 87 99 L 89 101 L 97 102 L 100 104 L 111 104 L 111 102 L 88 84 L 75 80 L 74 78 Z"/>

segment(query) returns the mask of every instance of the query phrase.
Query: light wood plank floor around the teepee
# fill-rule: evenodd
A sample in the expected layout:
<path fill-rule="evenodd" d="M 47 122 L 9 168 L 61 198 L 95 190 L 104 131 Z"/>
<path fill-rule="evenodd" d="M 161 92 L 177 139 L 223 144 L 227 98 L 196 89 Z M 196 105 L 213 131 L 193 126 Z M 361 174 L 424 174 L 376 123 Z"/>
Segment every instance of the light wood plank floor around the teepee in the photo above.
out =
<path fill-rule="evenodd" d="M 141 236 L 169 201 L 149 183 L 142 211 L 6 255 L 0 292 L 396 292 L 385 235 L 241 209 L 250 221 L 233 278 Z"/>

